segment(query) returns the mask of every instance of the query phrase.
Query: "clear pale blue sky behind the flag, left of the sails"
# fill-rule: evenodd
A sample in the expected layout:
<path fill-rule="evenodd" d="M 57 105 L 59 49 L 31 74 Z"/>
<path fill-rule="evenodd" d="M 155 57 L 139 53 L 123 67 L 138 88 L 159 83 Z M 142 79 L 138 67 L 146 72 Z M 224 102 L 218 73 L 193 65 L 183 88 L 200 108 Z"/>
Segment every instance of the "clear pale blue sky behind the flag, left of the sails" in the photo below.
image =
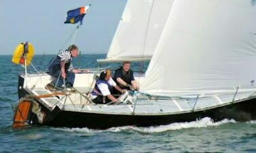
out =
<path fill-rule="evenodd" d="M 64 24 L 66 13 L 89 4 L 74 37 L 77 24 Z M 12 55 L 25 41 L 33 44 L 35 55 L 57 54 L 72 38 L 82 54 L 107 53 L 125 4 L 126 0 L 0 0 L 0 55 Z"/>

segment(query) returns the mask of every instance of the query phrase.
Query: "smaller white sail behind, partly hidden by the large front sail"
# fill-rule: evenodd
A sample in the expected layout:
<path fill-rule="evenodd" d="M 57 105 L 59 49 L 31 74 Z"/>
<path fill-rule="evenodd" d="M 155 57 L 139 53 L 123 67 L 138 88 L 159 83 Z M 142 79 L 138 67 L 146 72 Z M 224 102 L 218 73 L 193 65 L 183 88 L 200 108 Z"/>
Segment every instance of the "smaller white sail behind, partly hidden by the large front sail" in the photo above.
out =
<path fill-rule="evenodd" d="M 128 0 L 106 59 L 152 57 L 173 0 Z"/>

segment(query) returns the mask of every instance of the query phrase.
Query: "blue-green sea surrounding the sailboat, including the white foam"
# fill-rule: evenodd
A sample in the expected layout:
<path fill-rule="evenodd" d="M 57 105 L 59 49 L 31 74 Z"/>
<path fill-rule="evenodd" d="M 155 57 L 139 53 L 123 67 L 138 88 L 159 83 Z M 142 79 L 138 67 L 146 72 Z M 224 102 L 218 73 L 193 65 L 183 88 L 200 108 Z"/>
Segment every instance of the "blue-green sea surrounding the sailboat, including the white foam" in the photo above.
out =
<path fill-rule="evenodd" d="M 37 71 L 45 71 L 52 57 L 54 55 L 36 55 L 32 63 Z M 95 59 L 104 57 L 79 55 L 74 66 L 98 67 Z M 256 152 L 256 121 L 240 123 L 224 119 L 213 123 L 205 117 L 156 127 L 13 129 L 18 74 L 24 73 L 24 68 L 12 64 L 11 55 L 0 56 L 0 61 L 0 152 Z M 133 65 L 133 69 L 136 68 L 140 68 L 140 63 Z M 35 72 L 31 65 L 28 72 Z"/>

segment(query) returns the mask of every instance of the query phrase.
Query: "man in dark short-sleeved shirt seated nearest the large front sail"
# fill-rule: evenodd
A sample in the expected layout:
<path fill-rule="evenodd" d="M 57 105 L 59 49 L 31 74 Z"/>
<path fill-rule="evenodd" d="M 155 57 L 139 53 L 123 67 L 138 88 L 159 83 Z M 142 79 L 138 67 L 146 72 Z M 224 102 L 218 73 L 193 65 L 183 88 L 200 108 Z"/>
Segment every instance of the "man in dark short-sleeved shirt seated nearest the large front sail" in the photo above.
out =
<path fill-rule="evenodd" d="M 130 67 L 131 63 L 129 61 L 123 62 L 123 67 L 116 69 L 114 72 L 114 80 L 123 89 L 138 90 L 137 82 Z"/>

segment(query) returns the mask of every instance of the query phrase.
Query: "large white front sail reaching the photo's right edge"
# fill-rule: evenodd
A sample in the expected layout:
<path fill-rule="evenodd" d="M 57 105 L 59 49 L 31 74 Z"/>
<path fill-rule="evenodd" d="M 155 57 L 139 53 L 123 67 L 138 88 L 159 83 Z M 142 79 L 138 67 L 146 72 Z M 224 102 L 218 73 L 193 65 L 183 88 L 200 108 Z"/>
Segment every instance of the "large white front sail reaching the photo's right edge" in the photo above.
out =
<path fill-rule="evenodd" d="M 253 1 L 174 1 L 140 90 L 173 95 L 256 88 L 255 14 Z"/>

